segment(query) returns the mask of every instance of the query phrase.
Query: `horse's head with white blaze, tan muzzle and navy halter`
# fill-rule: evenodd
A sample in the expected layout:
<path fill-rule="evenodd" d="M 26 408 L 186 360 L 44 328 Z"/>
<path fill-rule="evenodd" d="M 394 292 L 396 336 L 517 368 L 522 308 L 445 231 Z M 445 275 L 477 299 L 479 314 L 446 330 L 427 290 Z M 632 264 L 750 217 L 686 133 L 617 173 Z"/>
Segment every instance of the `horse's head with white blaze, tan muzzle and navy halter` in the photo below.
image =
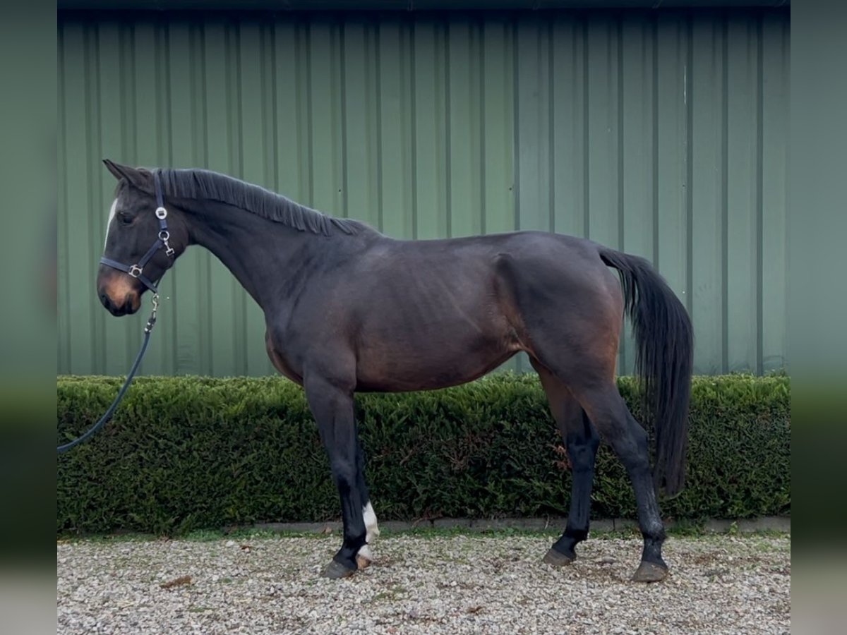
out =
<path fill-rule="evenodd" d="M 188 245 L 180 211 L 163 201 L 158 175 L 105 159 L 118 179 L 97 272 L 97 295 L 112 315 L 135 313 Z"/>

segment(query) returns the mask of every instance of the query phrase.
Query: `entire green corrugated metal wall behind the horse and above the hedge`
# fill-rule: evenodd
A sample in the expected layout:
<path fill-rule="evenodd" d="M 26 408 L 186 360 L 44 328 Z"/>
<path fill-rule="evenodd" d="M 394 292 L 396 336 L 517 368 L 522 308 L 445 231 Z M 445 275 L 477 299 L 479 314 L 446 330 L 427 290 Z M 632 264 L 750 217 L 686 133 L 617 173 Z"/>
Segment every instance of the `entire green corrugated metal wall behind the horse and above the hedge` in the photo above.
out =
<path fill-rule="evenodd" d="M 657 264 L 697 372 L 783 365 L 787 12 L 60 13 L 58 51 L 59 373 L 125 373 L 145 319 L 94 292 L 102 157 L 217 169 L 396 237 L 586 235 Z M 162 293 L 143 373 L 274 372 L 208 252 Z"/>

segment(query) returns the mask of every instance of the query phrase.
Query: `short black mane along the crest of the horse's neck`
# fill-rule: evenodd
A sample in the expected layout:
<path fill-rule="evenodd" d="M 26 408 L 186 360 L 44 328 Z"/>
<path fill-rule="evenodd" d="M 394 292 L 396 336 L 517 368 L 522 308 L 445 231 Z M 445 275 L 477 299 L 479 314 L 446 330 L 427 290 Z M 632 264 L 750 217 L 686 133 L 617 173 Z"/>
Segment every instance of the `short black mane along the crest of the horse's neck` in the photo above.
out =
<path fill-rule="evenodd" d="M 159 175 L 163 190 L 171 196 L 222 202 L 300 231 L 323 235 L 341 231 L 355 235 L 367 227 L 349 218 L 334 218 L 259 185 L 212 170 L 163 168 Z"/>

